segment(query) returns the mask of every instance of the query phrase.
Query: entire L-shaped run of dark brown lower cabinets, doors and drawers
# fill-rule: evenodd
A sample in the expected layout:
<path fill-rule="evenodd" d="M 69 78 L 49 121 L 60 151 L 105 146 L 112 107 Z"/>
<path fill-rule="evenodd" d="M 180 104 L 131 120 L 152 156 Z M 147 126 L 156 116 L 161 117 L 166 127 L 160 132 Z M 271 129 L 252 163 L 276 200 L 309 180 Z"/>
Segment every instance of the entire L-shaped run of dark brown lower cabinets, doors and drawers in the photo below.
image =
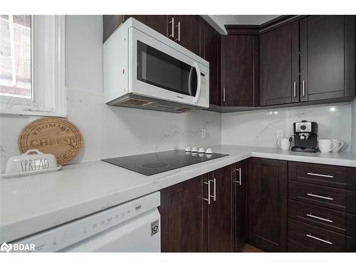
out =
<path fill-rule="evenodd" d="M 250 158 L 162 189 L 162 251 L 356 251 L 355 169 Z"/>

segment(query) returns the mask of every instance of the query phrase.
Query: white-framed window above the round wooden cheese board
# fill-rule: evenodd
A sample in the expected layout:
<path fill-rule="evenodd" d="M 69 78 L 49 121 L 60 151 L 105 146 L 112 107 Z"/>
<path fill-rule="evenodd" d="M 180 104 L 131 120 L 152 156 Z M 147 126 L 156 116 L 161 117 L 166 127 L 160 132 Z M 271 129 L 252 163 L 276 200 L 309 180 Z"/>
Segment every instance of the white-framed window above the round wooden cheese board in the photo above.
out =
<path fill-rule="evenodd" d="M 65 16 L 0 15 L 0 112 L 66 116 Z"/>

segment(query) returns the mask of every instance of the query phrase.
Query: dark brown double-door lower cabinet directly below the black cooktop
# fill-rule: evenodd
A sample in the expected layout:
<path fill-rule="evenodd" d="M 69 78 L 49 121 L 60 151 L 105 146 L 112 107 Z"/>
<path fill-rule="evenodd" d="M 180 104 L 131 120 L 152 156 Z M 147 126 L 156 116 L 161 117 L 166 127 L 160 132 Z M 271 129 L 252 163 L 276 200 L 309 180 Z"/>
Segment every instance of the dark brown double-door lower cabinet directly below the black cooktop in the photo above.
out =
<path fill-rule="evenodd" d="M 229 165 L 161 190 L 163 252 L 234 251 L 231 174 Z"/>

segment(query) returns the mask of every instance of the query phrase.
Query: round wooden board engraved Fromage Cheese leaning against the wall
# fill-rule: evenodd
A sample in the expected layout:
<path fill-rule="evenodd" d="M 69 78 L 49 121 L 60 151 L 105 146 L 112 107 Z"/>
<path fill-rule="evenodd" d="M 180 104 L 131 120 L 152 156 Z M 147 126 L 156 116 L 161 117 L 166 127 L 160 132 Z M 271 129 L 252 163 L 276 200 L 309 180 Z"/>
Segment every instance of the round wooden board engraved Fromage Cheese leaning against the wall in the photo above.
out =
<path fill-rule="evenodd" d="M 21 153 L 37 149 L 55 155 L 58 164 L 63 165 L 78 155 L 83 140 L 72 122 L 58 117 L 43 117 L 23 128 L 18 143 Z"/>

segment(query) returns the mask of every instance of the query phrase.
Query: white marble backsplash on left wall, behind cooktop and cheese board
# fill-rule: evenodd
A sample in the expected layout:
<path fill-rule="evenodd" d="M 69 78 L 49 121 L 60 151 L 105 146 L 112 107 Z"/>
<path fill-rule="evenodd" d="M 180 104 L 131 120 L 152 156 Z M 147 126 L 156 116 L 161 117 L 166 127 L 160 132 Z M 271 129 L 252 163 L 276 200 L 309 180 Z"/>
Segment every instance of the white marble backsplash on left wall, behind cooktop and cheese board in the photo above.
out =
<path fill-rule="evenodd" d="M 112 107 L 103 103 L 101 94 L 73 89 L 68 90 L 67 105 L 68 120 L 80 129 L 84 141 L 73 162 L 221 142 L 221 115 L 215 112 L 174 114 Z M 1 171 L 9 157 L 19 155 L 17 138 L 21 129 L 37 118 L 0 116 Z M 201 139 L 201 128 L 206 129 L 205 139 Z"/>

